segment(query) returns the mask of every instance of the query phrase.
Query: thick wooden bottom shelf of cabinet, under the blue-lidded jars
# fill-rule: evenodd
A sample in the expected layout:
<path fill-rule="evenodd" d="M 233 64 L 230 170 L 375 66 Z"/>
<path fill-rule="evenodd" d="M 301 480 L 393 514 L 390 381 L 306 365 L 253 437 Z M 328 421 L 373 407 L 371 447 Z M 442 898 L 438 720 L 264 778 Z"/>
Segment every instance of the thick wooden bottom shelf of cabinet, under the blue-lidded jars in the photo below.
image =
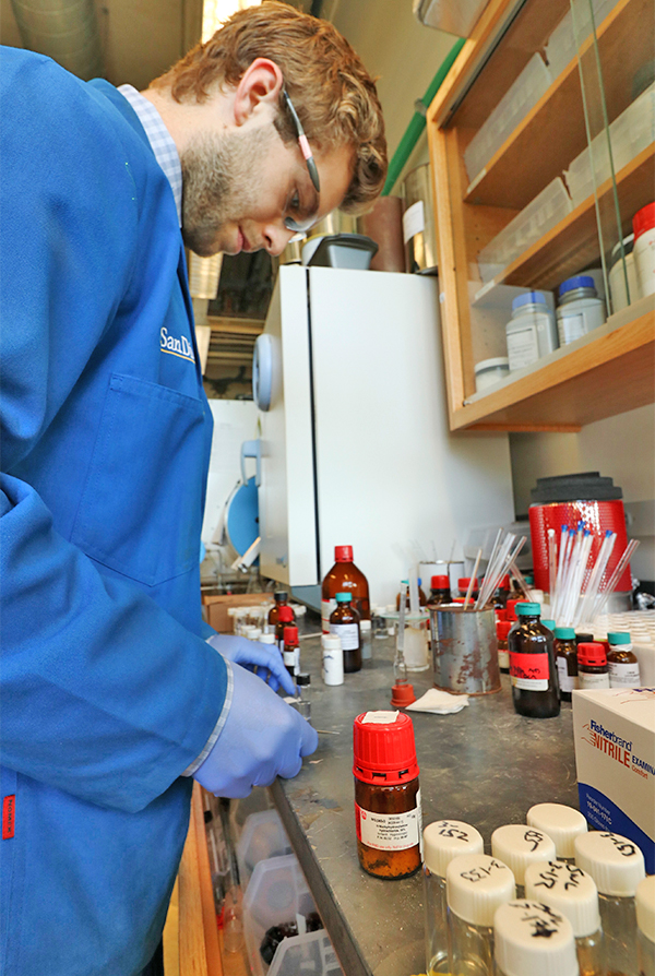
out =
<path fill-rule="evenodd" d="M 451 429 L 579 430 L 585 424 L 652 403 L 653 297 L 632 309 L 644 307 L 624 325 L 603 330 L 604 334 L 581 348 L 562 350 L 547 366 L 454 410 Z M 624 317 L 624 312 L 620 314 Z"/>

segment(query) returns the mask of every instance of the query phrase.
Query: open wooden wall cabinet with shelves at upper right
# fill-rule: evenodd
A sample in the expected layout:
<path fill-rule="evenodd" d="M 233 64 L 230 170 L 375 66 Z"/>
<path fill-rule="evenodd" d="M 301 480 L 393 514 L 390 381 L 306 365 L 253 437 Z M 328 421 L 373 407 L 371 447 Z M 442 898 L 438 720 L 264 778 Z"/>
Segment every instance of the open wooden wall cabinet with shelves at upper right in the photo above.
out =
<path fill-rule="evenodd" d="M 562 34 L 563 17 L 576 36 L 571 57 L 557 63 L 553 32 L 559 26 Z M 652 85 L 654 50 L 655 0 L 573 0 L 572 9 L 569 0 L 490 0 L 430 106 L 451 429 L 576 430 L 653 402 L 653 296 L 633 295 L 628 308 L 615 312 L 608 272 L 633 214 L 655 197 L 653 122 L 633 153 L 624 140 L 618 145 L 612 126 L 640 85 Z M 499 145 L 490 143 L 485 158 L 477 147 L 487 119 L 498 115 L 510 90 L 521 96 L 533 83 L 528 110 L 517 114 Z M 512 118 L 511 109 L 503 118 Z M 594 136 L 596 158 L 600 146 L 620 165 L 610 163 L 607 175 L 591 165 L 588 192 L 571 199 L 567 171 Z M 498 265 L 485 265 L 498 235 L 548 188 L 556 202 L 543 229 L 526 222 L 525 246 Z M 550 293 L 552 303 L 558 285 L 590 266 L 604 267 L 605 325 L 476 393 L 475 364 L 507 355 L 512 297 L 535 289 Z"/>

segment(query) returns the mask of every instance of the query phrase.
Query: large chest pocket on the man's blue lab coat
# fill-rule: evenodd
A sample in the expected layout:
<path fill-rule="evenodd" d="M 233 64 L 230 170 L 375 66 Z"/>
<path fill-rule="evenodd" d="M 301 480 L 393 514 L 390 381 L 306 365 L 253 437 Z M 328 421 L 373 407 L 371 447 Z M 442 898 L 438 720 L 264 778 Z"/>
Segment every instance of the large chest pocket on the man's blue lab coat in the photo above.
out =
<path fill-rule="evenodd" d="M 206 402 L 115 373 L 71 541 L 155 586 L 200 557 Z"/>

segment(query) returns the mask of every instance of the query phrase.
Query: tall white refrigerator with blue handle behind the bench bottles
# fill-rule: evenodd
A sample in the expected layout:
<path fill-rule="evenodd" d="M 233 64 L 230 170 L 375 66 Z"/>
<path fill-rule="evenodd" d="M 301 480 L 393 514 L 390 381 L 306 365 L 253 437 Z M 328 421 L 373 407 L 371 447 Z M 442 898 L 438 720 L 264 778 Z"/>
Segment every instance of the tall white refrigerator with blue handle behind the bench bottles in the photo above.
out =
<path fill-rule="evenodd" d="M 448 430 L 437 278 L 283 265 L 253 386 L 261 572 L 311 606 L 335 545 L 389 604 L 416 544 L 512 522 L 508 436 Z"/>

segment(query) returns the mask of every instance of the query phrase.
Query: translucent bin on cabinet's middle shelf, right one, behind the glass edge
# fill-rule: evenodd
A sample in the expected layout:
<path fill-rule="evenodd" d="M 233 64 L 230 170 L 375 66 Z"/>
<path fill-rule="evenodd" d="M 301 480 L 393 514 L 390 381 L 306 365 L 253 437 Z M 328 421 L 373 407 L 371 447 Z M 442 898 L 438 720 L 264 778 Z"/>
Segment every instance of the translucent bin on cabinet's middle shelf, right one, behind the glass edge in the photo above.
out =
<path fill-rule="evenodd" d="M 655 84 L 635 98 L 609 127 L 615 174 L 621 171 L 642 150 L 655 141 Z M 592 156 L 595 180 L 592 176 Z M 600 185 L 611 176 L 607 135 L 600 132 L 592 141 L 592 147 L 583 150 L 564 172 L 573 206 L 594 192 L 594 182 Z"/>

